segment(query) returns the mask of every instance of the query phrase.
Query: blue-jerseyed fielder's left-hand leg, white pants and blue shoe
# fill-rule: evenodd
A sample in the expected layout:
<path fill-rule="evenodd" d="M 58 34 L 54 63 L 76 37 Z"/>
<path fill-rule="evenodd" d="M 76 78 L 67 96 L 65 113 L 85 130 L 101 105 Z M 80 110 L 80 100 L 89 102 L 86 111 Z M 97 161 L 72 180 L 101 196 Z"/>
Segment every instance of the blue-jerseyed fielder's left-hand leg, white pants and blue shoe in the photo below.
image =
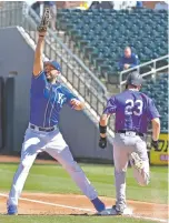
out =
<path fill-rule="evenodd" d="M 18 212 L 19 196 L 22 192 L 29 170 L 32 166 L 38 152 L 40 152 L 40 139 L 38 135 L 28 129 L 26 131 L 24 142 L 22 144 L 20 164 L 13 176 L 13 182 L 7 201 L 8 214 L 17 214 Z"/>

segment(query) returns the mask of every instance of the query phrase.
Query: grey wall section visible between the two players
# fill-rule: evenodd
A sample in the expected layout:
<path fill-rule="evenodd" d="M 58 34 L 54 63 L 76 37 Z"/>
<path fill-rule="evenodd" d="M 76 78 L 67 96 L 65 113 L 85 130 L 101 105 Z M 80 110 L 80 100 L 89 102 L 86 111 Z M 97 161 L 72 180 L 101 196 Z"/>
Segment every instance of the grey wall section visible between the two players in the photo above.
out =
<path fill-rule="evenodd" d="M 76 158 L 112 160 L 112 145 L 106 150 L 98 146 L 98 128 L 86 112 L 64 107 L 60 118 L 60 130 Z"/>

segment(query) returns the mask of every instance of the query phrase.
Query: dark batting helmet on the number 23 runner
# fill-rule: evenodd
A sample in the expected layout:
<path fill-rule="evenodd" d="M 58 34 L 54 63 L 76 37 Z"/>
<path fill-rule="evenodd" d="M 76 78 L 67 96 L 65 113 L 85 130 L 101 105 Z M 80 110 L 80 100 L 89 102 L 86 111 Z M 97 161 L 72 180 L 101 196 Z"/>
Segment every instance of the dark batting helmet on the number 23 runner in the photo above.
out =
<path fill-rule="evenodd" d="M 136 85 L 136 87 L 138 87 L 138 85 L 141 85 L 142 82 L 143 82 L 143 79 L 140 75 L 140 73 L 138 71 L 133 71 L 133 72 L 128 74 L 126 85 Z"/>

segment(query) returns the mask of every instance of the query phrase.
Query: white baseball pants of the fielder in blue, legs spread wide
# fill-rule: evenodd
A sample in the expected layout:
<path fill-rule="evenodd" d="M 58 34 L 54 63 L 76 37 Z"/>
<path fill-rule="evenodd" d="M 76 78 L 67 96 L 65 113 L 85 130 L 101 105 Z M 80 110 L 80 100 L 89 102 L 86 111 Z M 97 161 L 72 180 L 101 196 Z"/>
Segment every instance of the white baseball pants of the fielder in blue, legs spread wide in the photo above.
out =
<path fill-rule="evenodd" d="M 22 144 L 21 161 L 14 174 L 11 191 L 9 193 L 8 205 L 18 205 L 18 199 L 22 192 L 29 170 L 38 153 L 42 151 L 49 153 L 67 170 L 87 197 L 93 200 L 98 196 L 90 181 L 73 160 L 69 146 L 58 129 L 52 132 L 41 132 L 28 128 Z"/>

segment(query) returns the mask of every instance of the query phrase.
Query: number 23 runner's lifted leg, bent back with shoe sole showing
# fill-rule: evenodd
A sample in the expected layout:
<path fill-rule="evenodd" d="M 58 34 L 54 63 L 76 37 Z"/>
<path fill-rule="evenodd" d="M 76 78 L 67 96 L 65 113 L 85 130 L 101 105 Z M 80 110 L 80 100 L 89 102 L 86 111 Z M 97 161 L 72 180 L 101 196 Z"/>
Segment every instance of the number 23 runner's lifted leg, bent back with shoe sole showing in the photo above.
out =
<path fill-rule="evenodd" d="M 135 151 L 130 155 L 130 163 L 133 168 L 133 176 L 137 182 L 145 186 L 149 183 L 149 159 L 147 154 L 146 140 L 138 136 Z"/>

